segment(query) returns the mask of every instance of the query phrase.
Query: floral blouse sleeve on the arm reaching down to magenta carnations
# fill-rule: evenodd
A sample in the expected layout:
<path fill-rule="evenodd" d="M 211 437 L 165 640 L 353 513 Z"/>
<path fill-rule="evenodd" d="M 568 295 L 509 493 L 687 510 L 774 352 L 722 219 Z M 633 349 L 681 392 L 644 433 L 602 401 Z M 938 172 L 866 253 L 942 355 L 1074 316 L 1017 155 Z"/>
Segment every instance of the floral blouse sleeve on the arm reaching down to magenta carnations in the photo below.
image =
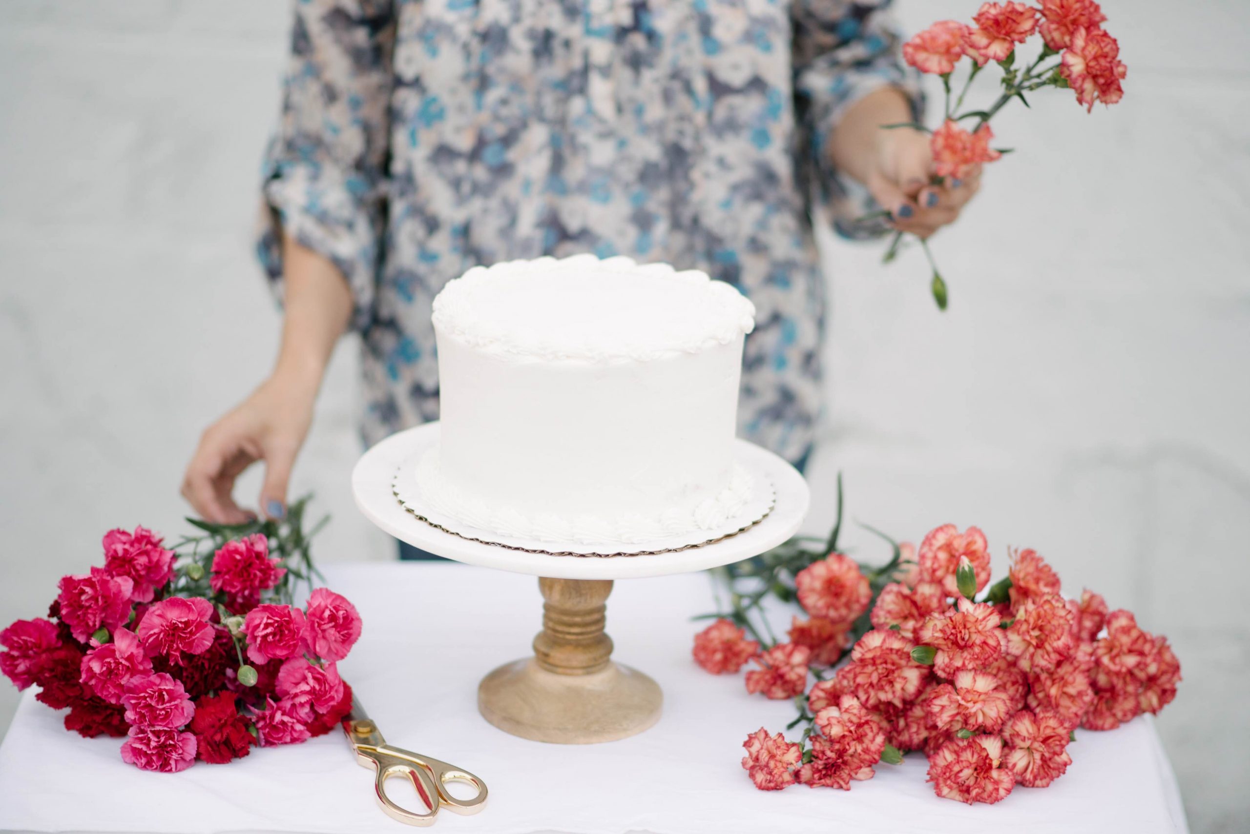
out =
<path fill-rule="evenodd" d="M 351 325 L 372 318 L 386 212 L 392 9 L 389 0 L 295 4 L 278 130 L 264 160 L 258 253 L 281 301 L 282 230 L 326 256 L 351 288 Z"/>

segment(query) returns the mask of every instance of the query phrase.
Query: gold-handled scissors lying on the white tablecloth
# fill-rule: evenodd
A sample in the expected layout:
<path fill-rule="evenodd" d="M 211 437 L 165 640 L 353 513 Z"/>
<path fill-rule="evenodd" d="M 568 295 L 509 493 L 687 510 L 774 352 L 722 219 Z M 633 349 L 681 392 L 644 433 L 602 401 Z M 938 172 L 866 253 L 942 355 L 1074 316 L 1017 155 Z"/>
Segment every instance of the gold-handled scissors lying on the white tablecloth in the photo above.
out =
<path fill-rule="evenodd" d="M 351 698 L 351 712 L 342 719 L 342 732 L 348 734 L 360 767 L 372 767 L 378 772 L 374 789 L 382 810 L 409 825 L 432 825 L 439 808 L 446 805 L 458 814 L 476 814 L 486 804 L 486 783 L 454 764 L 431 759 L 410 750 L 391 747 L 378 732 L 356 697 Z M 394 803 L 386 795 L 386 780 L 408 777 L 428 810 L 419 813 Z M 476 789 L 469 799 L 458 799 L 448 793 L 449 782 L 464 782 Z"/>

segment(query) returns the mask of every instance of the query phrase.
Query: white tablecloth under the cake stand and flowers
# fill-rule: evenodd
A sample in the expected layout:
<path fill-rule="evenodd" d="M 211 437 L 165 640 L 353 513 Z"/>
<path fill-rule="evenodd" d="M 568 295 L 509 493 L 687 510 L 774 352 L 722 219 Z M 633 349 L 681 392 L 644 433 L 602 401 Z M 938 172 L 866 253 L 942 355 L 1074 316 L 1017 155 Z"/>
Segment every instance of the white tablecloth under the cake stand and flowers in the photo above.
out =
<path fill-rule="evenodd" d="M 645 557 L 640 557 L 645 558 Z M 1185 832 L 1154 724 L 1078 732 L 1068 774 L 1046 789 L 968 807 L 938 799 L 925 760 L 881 765 L 850 792 L 801 785 L 759 792 L 739 767 L 761 724 L 781 729 L 789 702 L 748 695 L 690 658 L 711 606 L 705 574 L 618 582 L 608 630 L 615 658 L 664 688 L 664 717 L 621 742 L 585 747 L 514 738 L 476 708 L 478 680 L 529 653 L 540 626 L 531 577 L 451 563 L 335 566 L 365 630 L 341 664 L 388 740 L 478 773 L 490 800 L 475 817 L 444 812 L 445 832 L 529 834 L 760 834 L 761 832 Z M 84 739 L 26 693 L 0 747 L 0 829 L 30 832 L 402 832 L 372 798 L 340 733 L 254 749 L 229 765 L 180 774 L 124 764 L 118 739 Z"/>

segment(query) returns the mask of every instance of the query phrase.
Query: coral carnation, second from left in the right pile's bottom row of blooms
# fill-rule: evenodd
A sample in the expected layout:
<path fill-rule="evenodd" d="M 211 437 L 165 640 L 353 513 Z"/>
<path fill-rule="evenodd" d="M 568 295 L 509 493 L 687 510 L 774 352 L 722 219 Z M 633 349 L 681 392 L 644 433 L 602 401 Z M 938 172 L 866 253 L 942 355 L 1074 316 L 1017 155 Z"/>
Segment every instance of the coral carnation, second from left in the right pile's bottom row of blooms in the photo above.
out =
<path fill-rule="evenodd" d="M 885 749 L 885 730 L 854 695 L 842 695 L 836 707 L 816 713 L 816 727 L 820 735 L 811 739 L 811 762 L 799 768 L 800 783 L 849 790 L 851 780 L 872 778 L 872 765 Z"/>

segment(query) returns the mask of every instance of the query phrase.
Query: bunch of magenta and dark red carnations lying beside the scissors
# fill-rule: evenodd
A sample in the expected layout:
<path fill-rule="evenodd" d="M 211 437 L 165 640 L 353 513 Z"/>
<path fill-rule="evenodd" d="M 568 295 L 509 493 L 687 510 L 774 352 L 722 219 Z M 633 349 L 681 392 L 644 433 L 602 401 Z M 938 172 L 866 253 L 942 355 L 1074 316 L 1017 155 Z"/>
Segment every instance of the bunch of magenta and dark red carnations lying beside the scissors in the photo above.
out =
<path fill-rule="evenodd" d="M 64 577 L 46 618 L 0 630 L 0 672 L 66 709 L 66 729 L 125 738 L 122 760 L 144 770 L 328 733 L 351 709 L 336 664 L 361 623 L 328 588 L 294 604 L 320 577 L 306 502 L 282 521 L 188 519 L 201 534 L 169 547 L 142 527 L 105 533 L 102 567 Z"/>

